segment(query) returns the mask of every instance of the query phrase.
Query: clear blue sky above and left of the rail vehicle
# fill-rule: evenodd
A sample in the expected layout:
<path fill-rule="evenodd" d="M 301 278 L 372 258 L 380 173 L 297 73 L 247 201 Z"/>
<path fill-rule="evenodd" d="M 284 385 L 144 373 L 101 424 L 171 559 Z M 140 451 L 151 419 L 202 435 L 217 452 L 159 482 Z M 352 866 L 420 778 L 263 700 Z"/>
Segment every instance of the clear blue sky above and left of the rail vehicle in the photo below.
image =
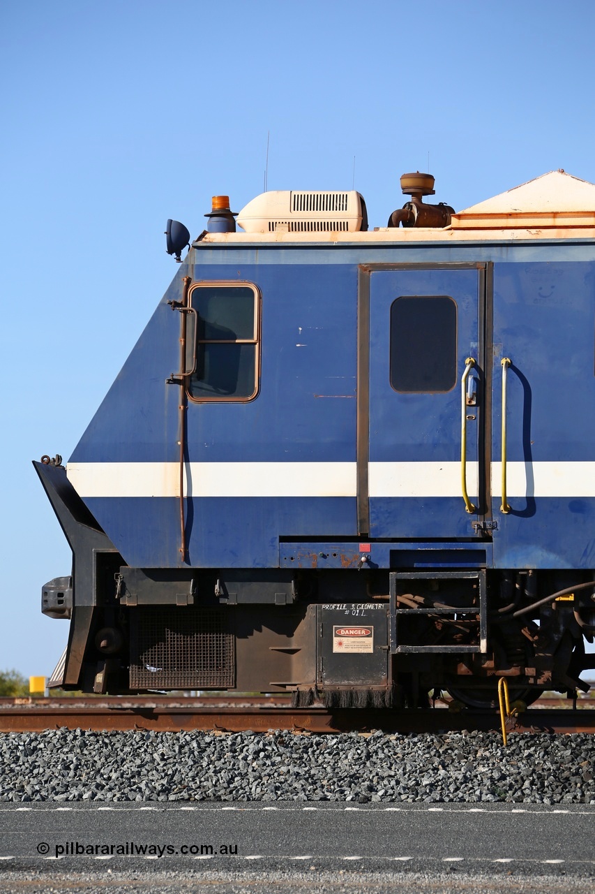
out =
<path fill-rule="evenodd" d="M 47 674 L 71 554 L 30 460 L 66 460 L 211 196 L 351 189 L 371 225 L 430 170 L 456 209 L 554 168 L 595 181 L 589 0 L 0 3 L 0 669 Z"/>

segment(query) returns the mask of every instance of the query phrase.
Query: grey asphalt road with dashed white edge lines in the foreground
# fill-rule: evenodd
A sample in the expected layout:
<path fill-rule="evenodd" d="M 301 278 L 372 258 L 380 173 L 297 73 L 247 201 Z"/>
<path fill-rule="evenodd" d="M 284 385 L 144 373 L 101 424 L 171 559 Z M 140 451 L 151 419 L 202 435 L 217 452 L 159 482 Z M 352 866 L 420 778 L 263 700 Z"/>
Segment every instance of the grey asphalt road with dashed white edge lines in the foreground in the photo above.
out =
<path fill-rule="evenodd" d="M 595 805 L 40 803 L 0 830 L 0 890 L 595 888 Z"/>

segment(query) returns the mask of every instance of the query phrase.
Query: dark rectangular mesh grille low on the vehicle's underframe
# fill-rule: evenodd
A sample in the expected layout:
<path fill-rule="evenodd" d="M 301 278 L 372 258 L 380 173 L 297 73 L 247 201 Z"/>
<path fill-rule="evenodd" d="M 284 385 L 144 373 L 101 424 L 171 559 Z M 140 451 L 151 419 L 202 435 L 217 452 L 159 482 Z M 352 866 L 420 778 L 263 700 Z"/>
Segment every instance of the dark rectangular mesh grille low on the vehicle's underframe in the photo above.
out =
<path fill-rule="evenodd" d="M 130 611 L 131 689 L 235 685 L 235 638 L 227 611 L 143 606 Z"/>

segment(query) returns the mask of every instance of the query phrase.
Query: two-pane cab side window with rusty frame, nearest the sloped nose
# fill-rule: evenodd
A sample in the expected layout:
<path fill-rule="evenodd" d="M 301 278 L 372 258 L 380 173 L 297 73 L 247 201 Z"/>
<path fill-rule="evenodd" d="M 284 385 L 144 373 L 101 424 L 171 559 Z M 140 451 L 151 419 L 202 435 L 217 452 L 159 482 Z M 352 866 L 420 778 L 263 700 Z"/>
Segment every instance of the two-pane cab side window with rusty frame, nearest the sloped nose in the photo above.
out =
<path fill-rule="evenodd" d="M 251 401 L 258 392 L 260 293 L 254 285 L 190 288 L 188 392 L 194 401 Z"/>

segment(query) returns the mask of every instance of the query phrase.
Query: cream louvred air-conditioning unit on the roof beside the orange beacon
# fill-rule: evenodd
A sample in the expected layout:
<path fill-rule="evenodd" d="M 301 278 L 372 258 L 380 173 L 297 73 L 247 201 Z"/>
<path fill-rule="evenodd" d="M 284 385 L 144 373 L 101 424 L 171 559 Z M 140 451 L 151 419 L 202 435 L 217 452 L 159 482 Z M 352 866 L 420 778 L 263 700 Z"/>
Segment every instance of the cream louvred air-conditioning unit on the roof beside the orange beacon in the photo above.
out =
<path fill-rule="evenodd" d="M 368 228 L 364 198 L 355 190 L 263 192 L 242 208 L 238 224 L 246 232 L 358 232 Z"/>

